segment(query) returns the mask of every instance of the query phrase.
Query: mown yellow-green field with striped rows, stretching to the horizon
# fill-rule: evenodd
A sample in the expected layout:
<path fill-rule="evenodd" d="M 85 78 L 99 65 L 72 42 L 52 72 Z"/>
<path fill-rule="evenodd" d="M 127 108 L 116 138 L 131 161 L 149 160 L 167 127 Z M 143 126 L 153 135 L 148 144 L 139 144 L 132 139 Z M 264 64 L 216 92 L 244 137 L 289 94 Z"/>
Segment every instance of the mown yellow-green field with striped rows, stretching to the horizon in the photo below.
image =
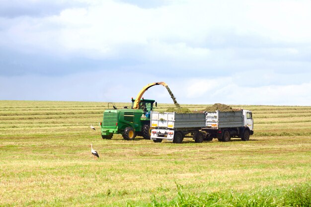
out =
<path fill-rule="evenodd" d="M 0 206 L 310 207 L 311 106 L 233 107 L 249 141 L 173 144 L 102 139 L 107 103 L 0 101 Z"/>

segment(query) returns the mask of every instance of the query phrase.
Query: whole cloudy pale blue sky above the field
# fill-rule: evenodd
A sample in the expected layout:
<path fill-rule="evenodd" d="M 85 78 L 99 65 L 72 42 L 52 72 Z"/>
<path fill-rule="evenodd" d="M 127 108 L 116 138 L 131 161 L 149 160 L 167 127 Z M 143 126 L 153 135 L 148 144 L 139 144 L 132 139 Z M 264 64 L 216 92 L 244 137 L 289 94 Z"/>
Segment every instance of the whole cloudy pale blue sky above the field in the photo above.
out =
<path fill-rule="evenodd" d="M 0 100 L 311 105 L 311 0 L 0 0 Z M 144 98 L 173 103 L 162 86 Z"/>

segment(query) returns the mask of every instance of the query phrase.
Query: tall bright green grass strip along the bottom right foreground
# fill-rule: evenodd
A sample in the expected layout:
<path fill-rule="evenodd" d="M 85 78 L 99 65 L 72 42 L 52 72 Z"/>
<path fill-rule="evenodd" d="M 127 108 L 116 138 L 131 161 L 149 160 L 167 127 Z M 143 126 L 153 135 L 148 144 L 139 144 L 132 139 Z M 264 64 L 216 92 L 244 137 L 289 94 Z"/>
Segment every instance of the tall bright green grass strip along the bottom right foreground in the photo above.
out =
<path fill-rule="evenodd" d="M 178 195 L 167 201 L 165 197 L 152 198 L 149 204 L 127 203 L 128 207 L 311 207 L 311 185 L 300 184 L 286 188 L 265 188 L 248 193 L 225 192 L 199 194 L 184 193 L 177 185 Z"/>

